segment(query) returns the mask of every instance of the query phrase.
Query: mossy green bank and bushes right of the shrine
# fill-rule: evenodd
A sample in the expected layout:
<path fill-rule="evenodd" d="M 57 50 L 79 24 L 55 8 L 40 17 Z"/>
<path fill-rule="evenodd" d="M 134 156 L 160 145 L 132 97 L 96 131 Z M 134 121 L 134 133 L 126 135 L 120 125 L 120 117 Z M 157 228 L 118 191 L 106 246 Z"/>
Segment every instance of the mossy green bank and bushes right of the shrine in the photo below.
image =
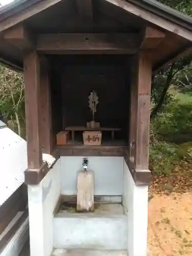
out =
<path fill-rule="evenodd" d="M 151 123 L 150 169 L 159 175 L 169 175 L 192 157 L 192 96 L 174 87 L 170 93 L 172 101 Z"/>

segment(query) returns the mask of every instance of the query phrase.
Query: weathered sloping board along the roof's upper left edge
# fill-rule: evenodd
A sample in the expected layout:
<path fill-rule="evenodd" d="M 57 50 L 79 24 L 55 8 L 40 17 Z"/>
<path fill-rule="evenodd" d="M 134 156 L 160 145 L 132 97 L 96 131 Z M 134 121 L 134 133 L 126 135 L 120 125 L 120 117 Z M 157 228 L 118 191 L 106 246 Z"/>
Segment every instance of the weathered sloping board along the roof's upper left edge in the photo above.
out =
<path fill-rule="evenodd" d="M 29 1 L 33 2 L 31 4 L 26 5 L 25 8 L 20 8 L 21 10 L 18 10 L 14 15 L 10 15 L 0 22 L 0 32 L 13 27 L 14 25 L 23 22 L 27 18 L 46 10 L 47 8 L 61 2 L 63 0 L 42 0 L 42 1 Z M 25 3 L 22 3 L 21 5 L 24 5 Z"/>

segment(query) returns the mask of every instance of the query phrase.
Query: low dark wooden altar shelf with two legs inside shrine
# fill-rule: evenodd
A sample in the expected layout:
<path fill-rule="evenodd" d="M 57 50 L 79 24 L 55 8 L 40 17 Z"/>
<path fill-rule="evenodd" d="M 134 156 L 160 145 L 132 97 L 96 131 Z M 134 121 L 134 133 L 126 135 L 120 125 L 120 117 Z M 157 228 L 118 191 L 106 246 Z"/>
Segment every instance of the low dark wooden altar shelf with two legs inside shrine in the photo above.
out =
<path fill-rule="evenodd" d="M 99 132 L 111 132 L 112 140 L 115 139 L 115 132 L 121 131 L 120 128 L 112 127 L 99 127 L 99 128 L 88 128 L 83 126 L 67 126 L 66 131 L 71 132 L 72 141 L 75 142 L 75 132 L 84 132 L 84 131 L 99 131 Z"/>

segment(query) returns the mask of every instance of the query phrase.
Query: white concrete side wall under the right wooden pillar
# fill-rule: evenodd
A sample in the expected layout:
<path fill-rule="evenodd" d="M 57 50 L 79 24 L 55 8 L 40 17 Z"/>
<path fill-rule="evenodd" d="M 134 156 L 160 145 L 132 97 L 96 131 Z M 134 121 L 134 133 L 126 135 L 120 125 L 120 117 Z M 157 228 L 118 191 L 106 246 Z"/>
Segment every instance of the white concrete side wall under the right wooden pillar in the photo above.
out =
<path fill-rule="evenodd" d="M 124 201 L 128 210 L 128 255 L 146 256 L 148 186 L 136 186 L 125 161 L 124 185 Z"/>

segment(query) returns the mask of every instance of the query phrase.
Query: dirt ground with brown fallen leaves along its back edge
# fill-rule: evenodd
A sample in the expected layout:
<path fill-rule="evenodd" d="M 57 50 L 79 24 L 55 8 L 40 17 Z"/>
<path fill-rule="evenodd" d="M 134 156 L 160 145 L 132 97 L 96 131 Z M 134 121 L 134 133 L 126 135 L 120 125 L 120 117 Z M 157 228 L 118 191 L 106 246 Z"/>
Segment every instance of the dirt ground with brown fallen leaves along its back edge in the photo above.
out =
<path fill-rule="evenodd" d="M 149 256 L 192 255 L 192 165 L 153 177 L 148 203 Z"/>

